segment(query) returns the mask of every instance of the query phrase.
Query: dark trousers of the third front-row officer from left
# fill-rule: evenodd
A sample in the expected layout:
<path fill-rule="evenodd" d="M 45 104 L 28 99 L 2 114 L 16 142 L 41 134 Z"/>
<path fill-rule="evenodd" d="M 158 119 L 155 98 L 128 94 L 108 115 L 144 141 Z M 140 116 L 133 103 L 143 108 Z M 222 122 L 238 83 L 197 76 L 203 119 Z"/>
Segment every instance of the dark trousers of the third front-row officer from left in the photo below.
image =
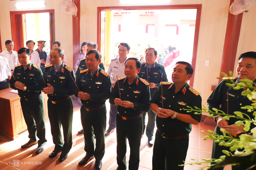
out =
<path fill-rule="evenodd" d="M 86 156 L 94 156 L 96 160 L 101 160 L 105 153 L 105 131 L 107 124 L 106 106 L 95 111 L 87 111 L 82 106 L 81 122 L 84 129 L 84 150 Z M 96 146 L 94 149 L 94 136 L 96 138 Z"/>

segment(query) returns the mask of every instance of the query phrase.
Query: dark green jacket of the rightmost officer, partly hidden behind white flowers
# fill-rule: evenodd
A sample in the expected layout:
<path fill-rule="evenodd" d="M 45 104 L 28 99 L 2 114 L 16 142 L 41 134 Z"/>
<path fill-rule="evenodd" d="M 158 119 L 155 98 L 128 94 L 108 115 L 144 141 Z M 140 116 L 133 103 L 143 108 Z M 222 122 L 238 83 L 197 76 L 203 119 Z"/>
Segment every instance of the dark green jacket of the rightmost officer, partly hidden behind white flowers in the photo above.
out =
<path fill-rule="evenodd" d="M 251 119 L 254 119 L 253 112 L 249 113 L 247 110 L 241 109 L 241 107 L 245 105 L 251 105 L 255 101 L 250 101 L 247 96 L 241 95 L 244 89 L 234 90 L 233 88 L 226 86 L 225 83 L 227 83 L 227 81 L 222 80 L 207 99 L 208 109 L 212 110 L 212 108 L 217 108 L 227 114 L 227 105 L 229 104 L 230 115 L 234 115 L 234 111 L 241 111 L 242 113 L 248 114 Z M 239 83 L 239 78 L 236 79 L 236 83 Z M 256 80 L 254 80 L 254 83 L 256 83 Z M 229 101 L 227 101 L 227 98 L 229 98 Z M 221 105 L 221 107 L 219 107 L 219 105 Z M 239 119 L 231 117 L 229 119 L 229 125 L 234 124 L 238 120 Z M 251 123 L 250 129 L 254 127 L 255 125 Z"/>

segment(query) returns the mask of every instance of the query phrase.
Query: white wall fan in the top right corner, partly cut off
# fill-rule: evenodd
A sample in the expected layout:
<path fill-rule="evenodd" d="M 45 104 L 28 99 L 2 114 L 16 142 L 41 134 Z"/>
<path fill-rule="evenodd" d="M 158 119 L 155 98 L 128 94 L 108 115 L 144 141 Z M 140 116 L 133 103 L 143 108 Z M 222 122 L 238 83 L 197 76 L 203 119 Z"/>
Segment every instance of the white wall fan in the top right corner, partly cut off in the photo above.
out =
<path fill-rule="evenodd" d="M 230 5 L 229 12 L 233 15 L 241 14 L 244 11 L 247 11 L 256 0 L 234 0 Z"/>

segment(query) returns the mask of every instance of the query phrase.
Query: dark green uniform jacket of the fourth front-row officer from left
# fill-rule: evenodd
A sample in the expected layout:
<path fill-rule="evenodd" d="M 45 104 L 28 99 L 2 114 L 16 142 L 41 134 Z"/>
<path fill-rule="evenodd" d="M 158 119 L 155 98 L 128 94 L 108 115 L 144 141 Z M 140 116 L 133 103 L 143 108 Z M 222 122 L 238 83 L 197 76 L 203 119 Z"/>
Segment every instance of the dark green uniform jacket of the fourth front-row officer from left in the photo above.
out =
<path fill-rule="evenodd" d="M 149 84 L 142 78 L 135 79 L 134 83 L 128 84 L 126 77 L 118 79 L 121 100 L 134 103 L 133 108 L 125 108 L 117 105 L 117 111 L 124 117 L 133 117 L 150 110 L 150 90 Z M 114 99 L 120 98 L 118 83 L 115 84 L 111 92 L 109 102 L 114 105 Z"/>

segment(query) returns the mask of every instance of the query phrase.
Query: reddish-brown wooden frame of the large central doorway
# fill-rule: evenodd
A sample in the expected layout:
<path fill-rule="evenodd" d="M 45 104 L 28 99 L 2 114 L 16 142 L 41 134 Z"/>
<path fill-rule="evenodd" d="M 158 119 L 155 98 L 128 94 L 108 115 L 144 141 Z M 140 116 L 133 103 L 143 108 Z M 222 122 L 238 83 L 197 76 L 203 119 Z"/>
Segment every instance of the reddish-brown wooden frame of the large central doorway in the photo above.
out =
<path fill-rule="evenodd" d="M 97 44 L 98 49 L 101 49 L 101 11 L 109 10 L 152 10 L 152 9 L 197 9 L 197 17 L 195 22 L 195 36 L 194 36 L 194 48 L 192 55 L 192 66 L 195 70 L 195 63 L 197 59 L 197 46 L 198 46 L 198 36 L 199 36 L 199 27 L 200 27 L 200 18 L 202 4 L 195 5 L 158 5 L 158 6 L 107 6 L 107 7 L 98 7 L 97 8 Z M 194 84 L 194 74 L 192 75 L 189 85 L 193 86 Z"/>

